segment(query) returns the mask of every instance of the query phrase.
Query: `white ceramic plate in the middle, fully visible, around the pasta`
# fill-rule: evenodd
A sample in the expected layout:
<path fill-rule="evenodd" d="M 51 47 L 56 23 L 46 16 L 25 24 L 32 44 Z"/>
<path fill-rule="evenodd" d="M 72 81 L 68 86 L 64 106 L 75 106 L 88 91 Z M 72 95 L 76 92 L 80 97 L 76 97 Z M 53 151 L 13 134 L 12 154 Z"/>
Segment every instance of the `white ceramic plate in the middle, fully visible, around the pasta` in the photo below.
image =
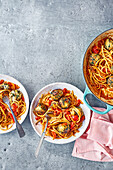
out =
<path fill-rule="evenodd" d="M 30 121 L 31 124 L 34 128 L 34 130 L 36 131 L 36 133 L 41 136 L 42 133 L 42 126 L 41 124 L 39 125 L 35 125 L 36 120 L 35 120 L 35 115 L 33 114 L 33 110 L 34 108 L 37 106 L 37 103 L 39 101 L 39 98 L 41 97 L 41 94 L 47 93 L 49 90 L 54 90 L 54 89 L 63 89 L 63 88 L 67 88 L 68 90 L 73 90 L 74 94 L 77 96 L 78 99 L 83 101 L 83 93 L 75 86 L 68 84 L 68 83 L 53 83 L 53 84 L 49 84 L 47 86 L 45 86 L 44 88 L 42 88 L 33 98 L 31 106 L 30 106 Z M 79 133 L 76 133 L 76 137 L 72 136 L 68 139 L 52 139 L 51 137 L 47 136 L 45 137 L 45 140 L 51 143 L 55 143 L 55 144 L 66 144 L 69 142 L 72 142 L 74 140 L 76 140 L 77 138 L 79 138 L 84 131 L 86 130 L 88 124 L 89 124 L 89 120 L 90 120 L 90 109 L 85 105 L 85 104 L 81 104 L 80 105 L 81 108 L 83 109 L 83 112 L 85 114 L 85 120 L 83 122 L 83 125 L 81 128 L 79 128 Z"/>

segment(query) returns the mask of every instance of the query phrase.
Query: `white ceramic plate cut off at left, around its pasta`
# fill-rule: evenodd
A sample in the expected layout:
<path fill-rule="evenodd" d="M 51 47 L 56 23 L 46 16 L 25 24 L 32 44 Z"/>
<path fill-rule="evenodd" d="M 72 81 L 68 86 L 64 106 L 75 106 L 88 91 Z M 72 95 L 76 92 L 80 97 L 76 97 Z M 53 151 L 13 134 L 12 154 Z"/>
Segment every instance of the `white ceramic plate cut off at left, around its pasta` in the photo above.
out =
<path fill-rule="evenodd" d="M 24 88 L 24 86 L 19 82 L 17 81 L 16 79 L 14 79 L 13 77 L 10 77 L 8 75 L 3 75 L 3 74 L 0 74 L 0 79 L 3 79 L 5 81 L 9 81 L 9 82 L 12 82 L 12 83 L 15 83 L 17 84 L 20 88 L 19 90 L 23 93 L 24 95 L 24 99 L 25 99 L 25 103 L 26 103 L 26 112 L 21 116 L 21 120 L 19 121 L 19 123 L 21 124 L 26 116 L 27 116 L 27 113 L 28 113 L 28 109 L 29 109 L 29 97 L 28 97 L 28 94 Z M 11 129 L 7 130 L 7 131 L 2 131 L 0 129 L 0 134 L 4 134 L 4 133 L 8 133 L 8 132 L 11 132 L 12 130 L 14 130 L 16 128 L 16 124 L 14 123 L 14 125 L 12 126 Z"/>

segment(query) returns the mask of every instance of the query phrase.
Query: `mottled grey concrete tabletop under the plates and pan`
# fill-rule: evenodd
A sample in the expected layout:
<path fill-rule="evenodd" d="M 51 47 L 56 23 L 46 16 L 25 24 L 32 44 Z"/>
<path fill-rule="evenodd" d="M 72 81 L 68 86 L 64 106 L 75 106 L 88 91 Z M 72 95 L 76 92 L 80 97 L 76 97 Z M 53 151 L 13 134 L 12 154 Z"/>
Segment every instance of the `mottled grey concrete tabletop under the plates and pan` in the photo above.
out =
<path fill-rule="evenodd" d="M 68 82 L 82 91 L 82 60 L 89 43 L 113 27 L 112 0 L 0 0 L 0 73 L 15 77 L 30 101 L 43 86 Z M 94 103 L 94 100 L 92 101 Z M 26 136 L 0 136 L 0 170 L 112 170 L 113 163 L 73 158 L 74 142 L 54 145 L 39 137 L 29 115 Z"/>

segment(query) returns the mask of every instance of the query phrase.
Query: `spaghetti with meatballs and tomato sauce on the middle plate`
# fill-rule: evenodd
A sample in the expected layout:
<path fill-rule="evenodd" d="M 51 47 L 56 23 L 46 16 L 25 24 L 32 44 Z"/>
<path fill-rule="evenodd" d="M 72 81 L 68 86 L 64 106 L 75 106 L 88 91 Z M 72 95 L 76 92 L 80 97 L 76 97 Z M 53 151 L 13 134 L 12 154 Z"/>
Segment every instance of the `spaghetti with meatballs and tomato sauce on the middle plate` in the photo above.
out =
<path fill-rule="evenodd" d="M 66 139 L 79 132 L 79 128 L 85 119 L 82 101 L 77 99 L 74 92 L 66 88 L 55 89 L 47 94 L 42 94 L 33 113 L 36 125 L 42 124 L 42 131 L 49 116 L 46 136 L 53 139 Z"/>

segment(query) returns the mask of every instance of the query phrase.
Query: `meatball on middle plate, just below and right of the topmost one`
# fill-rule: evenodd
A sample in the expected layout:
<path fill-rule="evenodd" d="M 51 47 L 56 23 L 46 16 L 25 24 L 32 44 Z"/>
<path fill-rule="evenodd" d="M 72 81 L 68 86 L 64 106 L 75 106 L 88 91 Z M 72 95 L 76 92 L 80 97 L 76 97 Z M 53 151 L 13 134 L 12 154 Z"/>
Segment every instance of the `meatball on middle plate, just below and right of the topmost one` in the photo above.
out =
<path fill-rule="evenodd" d="M 62 97 L 60 100 L 59 100 L 59 104 L 60 106 L 62 107 L 62 109 L 67 109 L 69 108 L 70 104 L 71 104 L 71 101 L 69 98 L 67 97 Z"/>

